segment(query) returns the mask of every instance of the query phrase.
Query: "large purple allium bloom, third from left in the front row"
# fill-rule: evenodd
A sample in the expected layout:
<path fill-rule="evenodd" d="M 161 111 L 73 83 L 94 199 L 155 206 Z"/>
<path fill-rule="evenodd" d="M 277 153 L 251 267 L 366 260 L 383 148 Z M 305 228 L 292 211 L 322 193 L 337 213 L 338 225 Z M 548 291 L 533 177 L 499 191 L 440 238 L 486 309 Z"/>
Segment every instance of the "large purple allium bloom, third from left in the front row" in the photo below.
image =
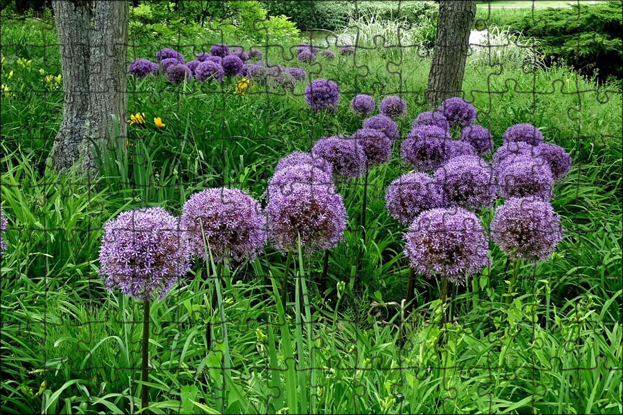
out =
<path fill-rule="evenodd" d="M 334 185 L 294 183 L 267 205 L 270 237 L 282 253 L 334 248 L 343 239 L 346 208 Z"/>

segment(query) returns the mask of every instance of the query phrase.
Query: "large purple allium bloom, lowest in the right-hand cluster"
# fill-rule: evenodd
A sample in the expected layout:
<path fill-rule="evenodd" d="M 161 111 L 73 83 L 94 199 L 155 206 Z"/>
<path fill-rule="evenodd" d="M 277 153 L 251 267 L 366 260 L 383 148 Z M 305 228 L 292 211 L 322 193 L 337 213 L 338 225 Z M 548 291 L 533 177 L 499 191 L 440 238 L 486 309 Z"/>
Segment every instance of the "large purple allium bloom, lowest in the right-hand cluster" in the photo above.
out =
<path fill-rule="evenodd" d="M 489 264 L 489 242 L 478 217 L 462 208 L 426 210 L 404 235 L 404 255 L 411 268 L 427 278 L 465 278 Z"/>

